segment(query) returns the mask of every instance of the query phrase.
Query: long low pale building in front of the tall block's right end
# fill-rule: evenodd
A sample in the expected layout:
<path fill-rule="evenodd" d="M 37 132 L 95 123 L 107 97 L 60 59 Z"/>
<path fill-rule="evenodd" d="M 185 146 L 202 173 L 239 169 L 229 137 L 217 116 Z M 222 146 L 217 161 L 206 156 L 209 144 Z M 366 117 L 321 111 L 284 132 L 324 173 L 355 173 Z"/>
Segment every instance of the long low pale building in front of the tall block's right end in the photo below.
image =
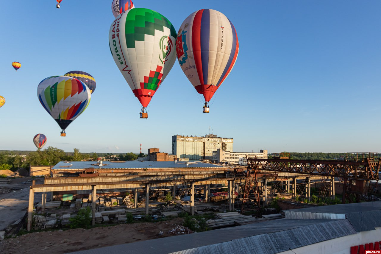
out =
<path fill-rule="evenodd" d="M 247 165 L 246 156 L 248 158 L 261 158 L 267 159 L 267 150 L 259 150 L 259 153 L 234 153 L 231 151 L 223 151 L 221 149 L 217 149 L 217 151 L 213 151 L 212 161 L 215 163 L 228 163 L 228 164 L 240 164 Z"/>

